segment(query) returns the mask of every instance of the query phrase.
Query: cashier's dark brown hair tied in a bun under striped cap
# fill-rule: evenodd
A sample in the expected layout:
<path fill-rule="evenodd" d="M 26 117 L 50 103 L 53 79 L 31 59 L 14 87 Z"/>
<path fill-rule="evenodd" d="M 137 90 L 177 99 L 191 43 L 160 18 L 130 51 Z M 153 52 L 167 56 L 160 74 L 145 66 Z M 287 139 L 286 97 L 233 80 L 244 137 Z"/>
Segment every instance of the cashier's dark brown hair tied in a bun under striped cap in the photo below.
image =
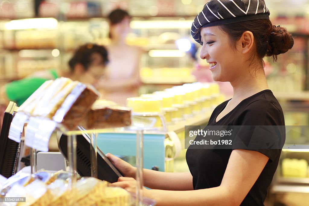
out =
<path fill-rule="evenodd" d="M 232 46 L 235 46 L 245 31 L 253 33 L 257 57 L 263 65 L 265 56 L 277 61 L 277 55 L 286 53 L 294 45 L 293 36 L 284 27 L 276 27 L 269 19 L 255 19 L 237 23 L 224 24 L 220 29 L 229 35 Z M 253 56 L 254 57 L 254 56 Z M 253 58 L 251 58 L 253 61 Z"/>

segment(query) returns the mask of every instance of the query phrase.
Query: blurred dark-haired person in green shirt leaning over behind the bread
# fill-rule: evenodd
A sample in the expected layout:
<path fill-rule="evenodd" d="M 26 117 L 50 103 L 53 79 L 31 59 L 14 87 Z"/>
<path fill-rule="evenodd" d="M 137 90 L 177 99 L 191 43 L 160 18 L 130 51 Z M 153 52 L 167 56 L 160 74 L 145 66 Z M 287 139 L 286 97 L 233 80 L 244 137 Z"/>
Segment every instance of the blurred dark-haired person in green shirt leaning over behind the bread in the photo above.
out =
<path fill-rule="evenodd" d="M 84 44 L 80 46 L 68 62 L 69 71 L 45 70 L 2 86 L 1 104 L 7 106 L 9 101 L 20 106 L 45 81 L 58 77 L 67 77 L 96 86 L 98 80 L 104 75 L 105 65 L 108 62 L 108 53 L 104 46 L 97 44 Z"/>

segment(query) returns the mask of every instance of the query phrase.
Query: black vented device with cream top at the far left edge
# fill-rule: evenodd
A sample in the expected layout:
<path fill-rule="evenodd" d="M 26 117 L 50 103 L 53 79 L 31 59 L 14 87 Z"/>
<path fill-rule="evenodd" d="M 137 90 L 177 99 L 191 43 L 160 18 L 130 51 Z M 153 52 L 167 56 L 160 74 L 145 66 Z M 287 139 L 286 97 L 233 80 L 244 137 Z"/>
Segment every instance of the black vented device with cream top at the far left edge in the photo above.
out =
<path fill-rule="evenodd" d="M 18 107 L 16 107 L 16 103 L 14 102 L 10 102 L 7 106 L 0 133 L 0 174 L 6 178 L 14 174 L 19 152 L 19 143 L 8 138 L 16 108 Z"/>

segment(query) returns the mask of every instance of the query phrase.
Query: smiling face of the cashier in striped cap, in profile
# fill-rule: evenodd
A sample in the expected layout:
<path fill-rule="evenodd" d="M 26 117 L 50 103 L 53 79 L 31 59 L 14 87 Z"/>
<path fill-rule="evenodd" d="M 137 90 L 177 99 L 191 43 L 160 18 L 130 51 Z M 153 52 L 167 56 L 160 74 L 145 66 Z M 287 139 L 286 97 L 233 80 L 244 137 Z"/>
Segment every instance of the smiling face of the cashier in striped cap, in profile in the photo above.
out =
<path fill-rule="evenodd" d="M 229 36 L 218 26 L 201 28 L 203 46 L 200 57 L 210 64 L 214 81 L 231 82 L 237 78 L 241 63 L 241 53 L 231 48 Z"/>

